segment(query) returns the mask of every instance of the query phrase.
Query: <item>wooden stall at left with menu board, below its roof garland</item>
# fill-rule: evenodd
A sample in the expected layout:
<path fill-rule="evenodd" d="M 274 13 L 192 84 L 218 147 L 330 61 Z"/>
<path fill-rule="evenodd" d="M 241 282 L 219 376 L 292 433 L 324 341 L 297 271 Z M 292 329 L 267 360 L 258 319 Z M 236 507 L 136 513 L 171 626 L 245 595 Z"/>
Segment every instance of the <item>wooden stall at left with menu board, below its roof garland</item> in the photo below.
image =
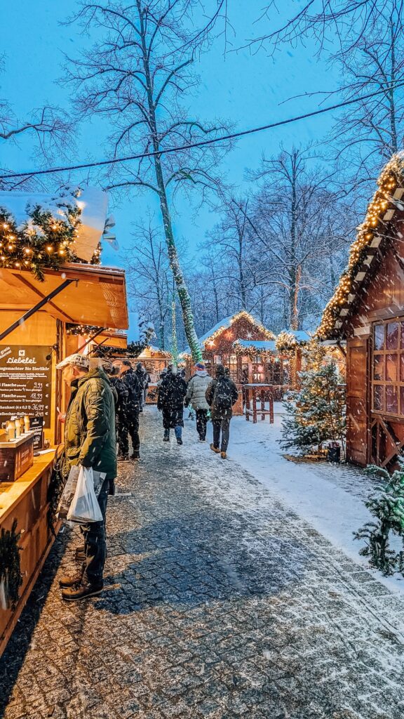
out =
<path fill-rule="evenodd" d="M 66 328 L 86 324 L 119 336 L 128 313 L 124 271 L 81 263 L 45 270 L 43 281 L 29 271 L 1 269 L 0 298 L 0 423 L 11 415 L 30 416 L 40 422 L 40 431 L 43 423 L 37 451 L 45 452 L 17 480 L 0 478 L 0 529 L 3 536 L 17 533 L 22 569 L 14 606 L 5 608 L 0 587 L 1 654 L 54 539 L 47 518 L 49 485 L 61 441 L 57 407 L 65 409 L 67 389 L 55 366 L 83 344 L 82 336 L 68 335 Z"/>

